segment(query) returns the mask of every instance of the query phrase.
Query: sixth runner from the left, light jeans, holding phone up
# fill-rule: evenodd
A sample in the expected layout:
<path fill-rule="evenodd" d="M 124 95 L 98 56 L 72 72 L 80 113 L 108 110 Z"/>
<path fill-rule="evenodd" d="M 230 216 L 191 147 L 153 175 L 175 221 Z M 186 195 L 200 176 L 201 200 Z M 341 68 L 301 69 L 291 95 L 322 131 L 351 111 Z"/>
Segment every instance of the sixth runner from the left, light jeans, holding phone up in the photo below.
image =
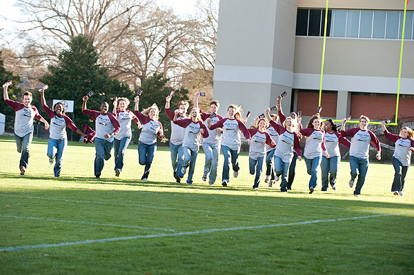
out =
<path fill-rule="evenodd" d="M 171 152 L 171 165 L 172 171 L 175 180 L 177 183 L 181 181 L 181 178 L 177 176 L 177 171 L 181 170 L 184 161 L 184 151 L 183 151 L 183 140 L 184 140 L 184 128 L 175 124 L 174 121 L 174 112 L 170 110 L 170 101 L 172 95 L 166 97 L 165 110 L 168 118 L 171 121 L 171 136 L 170 136 L 170 152 Z M 178 116 L 177 120 L 188 119 L 187 110 L 188 110 L 187 101 L 179 101 L 178 103 Z"/>

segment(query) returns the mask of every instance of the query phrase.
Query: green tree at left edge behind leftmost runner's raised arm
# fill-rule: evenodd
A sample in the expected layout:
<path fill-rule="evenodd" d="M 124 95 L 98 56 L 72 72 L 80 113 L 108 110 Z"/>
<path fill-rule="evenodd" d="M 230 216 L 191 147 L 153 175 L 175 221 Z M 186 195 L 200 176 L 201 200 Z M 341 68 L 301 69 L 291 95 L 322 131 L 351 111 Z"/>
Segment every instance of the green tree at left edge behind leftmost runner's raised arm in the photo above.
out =
<path fill-rule="evenodd" d="M 18 75 L 13 75 L 12 72 L 6 70 L 6 68 L 3 67 L 3 59 L 0 58 L 0 84 L 3 85 L 9 79 L 12 79 L 13 82 L 8 88 L 9 98 L 14 101 L 21 101 L 21 89 L 17 87 L 17 85 L 21 83 L 20 77 Z M 3 97 L 3 88 L 1 88 L 1 96 Z M 3 100 L 0 101 L 0 112 L 8 116 L 14 116 L 14 110 L 6 105 Z"/>

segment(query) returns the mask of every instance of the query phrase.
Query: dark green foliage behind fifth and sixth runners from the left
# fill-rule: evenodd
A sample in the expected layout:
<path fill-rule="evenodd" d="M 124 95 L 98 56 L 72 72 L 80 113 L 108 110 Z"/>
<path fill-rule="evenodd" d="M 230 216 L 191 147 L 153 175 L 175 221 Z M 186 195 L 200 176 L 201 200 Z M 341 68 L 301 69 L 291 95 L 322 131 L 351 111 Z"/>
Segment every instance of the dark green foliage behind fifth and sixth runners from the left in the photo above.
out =
<path fill-rule="evenodd" d="M 140 99 L 139 99 L 139 111 L 150 107 L 153 103 L 157 104 L 159 112 L 159 121 L 161 122 L 164 128 L 164 136 L 166 139 L 170 139 L 171 135 L 171 123 L 170 119 L 166 115 L 164 106 L 166 105 L 166 97 L 170 90 L 173 90 L 171 87 L 166 86 L 168 79 L 164 79 L 161 74 L 154 74 L 151 77 L 147 77 L 142 81 L 141 90 L 143 90 Z M 178 108 L 178 103 L 181 100 L 188 100 L 188 90 L 185 88 L 179 88 L 173 90 L 174 94 L 170 102 L 170 109 L 176 110 Z M 193 106 L 190 103 L 190 108 Z M 137 141 L 137 136 L 135 136 L 135 142 Z"/>

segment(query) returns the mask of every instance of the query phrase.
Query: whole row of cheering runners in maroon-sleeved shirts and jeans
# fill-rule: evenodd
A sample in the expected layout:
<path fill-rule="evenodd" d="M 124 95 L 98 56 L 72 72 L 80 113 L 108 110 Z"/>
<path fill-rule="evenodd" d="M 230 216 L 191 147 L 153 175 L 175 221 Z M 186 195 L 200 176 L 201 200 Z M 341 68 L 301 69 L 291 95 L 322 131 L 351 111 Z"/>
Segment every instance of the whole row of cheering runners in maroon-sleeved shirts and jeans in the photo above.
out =
<path fill-rule="evenodd" d="M 86 132 L 82 132 L 65 114 L 62 103 L 56 103 L 52 109 L 46 104 L 44 88 L 39 90 L 43 110 L 50 117 L 50 125 L 39 114 L 36 107 L 31 105 L 32 94 L 24 92 L 23 103 L 12 101 L 8 98 L 8 86 L 11 81 L 3 84 L 3 99 L 7 105 L 16 112 L 14 120 L 14 137 L 17 143 L 17 151 L 21 152 L 19 163 L 20 174 L 25 174 L 30 157 L 29 147 L 33 136 L 33 119 L 43 122 L 46 130 L 49 129 L 47 156 L 50 164 L 55 162 L 55 176 L 59 177 L 62 167 L 63 152 L 68 144 L 66 126 L 77 132 L 84 138 L 88 138 Z M 300 140 L 306 139 L 304 147 L 304 161 L 309 180 L 309 193 L 312 194 L 317 186 L 317 170 L 321 167 L 322 191 L 328 191 L 329 185 L 336 190 L 337 171 L 340 162 L 339 144 L 349 149 L 349 162 L 351 165 L 351 179 L 349 186 L 355 185 L 353 194 L 359 196 L 364 185 L 368 170 L 368 149 L 370 143 L 377 150 L 377 159 L 381 159 L 381 147 L 377 136 L 367 129 L 369 119 L 367 116 L 359 117 L 359 127 L 345 130 L 346 121 L 339 125 L 331 119 L 322 121 L 320 114 L 312 116 L 311 120 L 302 127 L 302 116 L 291 112 L 286 117 L 281 108 L 282 96 L 277 98 L 277 114 L 270 114 L 270 109 L 265 110 L 265 116 L 255 119 L 254 125 L 246 128 L 246 118 L 242 117 L 242 109 L 234 104 L 228 105 L 227 117 L 218 114 L 219 102 L 211 101 L 210 112 L 204 112 L 199 108 L 199 92 L 195 93 L 194 108 L 188 115 L 189 104 L 180 101 L 177 110 L 170 109 L 172 93 L 166 97 L 165 112 L 171 121 L 170 153 L 173 176 L 179 183 L 188 170 L 186 183 L 193 184 L 193 174 L 199 146 L 205 152 L 203 181 L 210 185 L 215 184 L 219 165 L 220 150 L 224 155 L 224 165 L 221 174 L 221 185 L 224 187 L 230 183 L 230 167 L 233 177 L 239 174 L 238 157 L 242 145 L 241 134 L 244 135 L 249 145 L 249 172 L 255 174 L 253 188 L 259 188 L 260 178 L 264 162 L 266 163 L 266 179 L 269 187 L 282 178 L 281 192 L 291 190 L 295 178 L 296 160 L 302 160 Z M 131 123 L 134 121 L 141 128 L 139 134 L 138 153 L 139 164 L 144 165 L 142 181 L 147 181 L 154 154 L 157 150 L 157 137 L 164 137 L 164 130 L 158 121 L 159 108 L 153 104 L 139 112 L 139 96 L 135 97 L 134 112 L 128 110 L 130 101 L 126 98 L 115 99 L 112 113 L 106 102 L 101 103 L 100 110 L 88 110 L 86 103 L 88 96 L 83 96 L 82 112 L 95 120 L 95 177 L 99 179 L 104 161 L 110 159 L 112 147 L 115 151 L 115 176 L 119 176 L 124 167 L 124 154 L 132 139 Z M 280 123 L 278 123 L 278 121 Z M 382 123 L 385 136 L 395 143 L 393 154 L 393 167 L 395 176 L 391 191 L 395 195 L 402 195 L 406 173 L 411 162 L 411 151 L 414 151 L 413 130 L 404 127 L 399 135 L 391 134 Z M 351 137 L 351 141 L 346 139 Z M 231 166 L 230 166 L 231 162 Z"/>

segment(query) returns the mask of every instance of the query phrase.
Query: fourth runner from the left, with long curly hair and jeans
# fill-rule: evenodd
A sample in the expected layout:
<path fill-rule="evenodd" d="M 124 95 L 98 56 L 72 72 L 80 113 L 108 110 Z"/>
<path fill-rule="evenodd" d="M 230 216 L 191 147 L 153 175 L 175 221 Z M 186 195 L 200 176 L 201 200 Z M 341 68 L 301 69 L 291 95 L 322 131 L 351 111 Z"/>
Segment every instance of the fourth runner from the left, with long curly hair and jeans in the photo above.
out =
<path fill-rule="evenodd" d="M 125 151 L 132 139 L 131 122 L 135 121 L 138 129 L 142 128 L 137 116 L 132 111 L 127 110 L 129 104 L 129 99 L 121 97 L 114 101 L 114 109 L 112 110 L 112 114 L 117 118 L 119 126 L 121 127 L 119 132 L 114 136 L 115 176 L 119 176 L 124 167 Z"/>

